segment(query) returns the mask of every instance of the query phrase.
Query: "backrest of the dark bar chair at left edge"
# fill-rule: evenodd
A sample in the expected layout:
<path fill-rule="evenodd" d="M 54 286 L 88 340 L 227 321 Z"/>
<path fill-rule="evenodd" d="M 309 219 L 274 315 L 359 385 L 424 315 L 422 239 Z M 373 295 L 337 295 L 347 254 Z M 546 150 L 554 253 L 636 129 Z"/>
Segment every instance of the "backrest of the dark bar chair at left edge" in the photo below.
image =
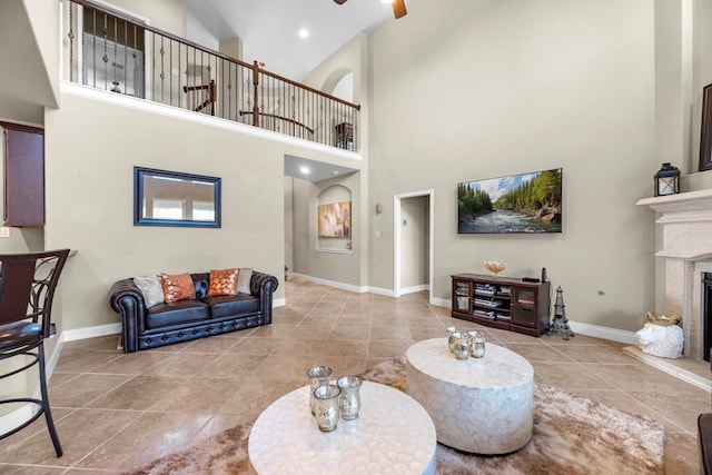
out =
<path fill-rule="evenodd" d="M 69 249 L 0 255 L 0 325 L 32 318 L 49 336 L 55 289 L 68 256 Z"/>

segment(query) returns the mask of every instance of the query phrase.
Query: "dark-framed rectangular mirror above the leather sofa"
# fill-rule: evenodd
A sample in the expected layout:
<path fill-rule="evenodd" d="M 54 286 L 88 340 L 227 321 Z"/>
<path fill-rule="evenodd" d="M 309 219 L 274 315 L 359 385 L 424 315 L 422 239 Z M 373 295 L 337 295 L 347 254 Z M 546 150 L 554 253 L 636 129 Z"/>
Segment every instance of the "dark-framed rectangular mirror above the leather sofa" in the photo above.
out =
<path fill-rule="evenodd" d="M 134 167 L 134 226 L 220 227 L 220 178 Z"/>

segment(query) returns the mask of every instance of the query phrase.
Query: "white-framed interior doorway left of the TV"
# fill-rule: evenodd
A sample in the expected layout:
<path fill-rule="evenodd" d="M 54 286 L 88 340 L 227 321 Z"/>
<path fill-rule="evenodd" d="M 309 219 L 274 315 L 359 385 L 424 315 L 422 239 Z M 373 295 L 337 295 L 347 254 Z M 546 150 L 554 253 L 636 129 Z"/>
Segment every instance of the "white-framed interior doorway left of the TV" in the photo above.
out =
<path fill-rule="evenodd" d="M 394 196 L 394 294 L 433 288 L 434 190 Z M 431 301 L 433 295 L 431 294 Z"/>

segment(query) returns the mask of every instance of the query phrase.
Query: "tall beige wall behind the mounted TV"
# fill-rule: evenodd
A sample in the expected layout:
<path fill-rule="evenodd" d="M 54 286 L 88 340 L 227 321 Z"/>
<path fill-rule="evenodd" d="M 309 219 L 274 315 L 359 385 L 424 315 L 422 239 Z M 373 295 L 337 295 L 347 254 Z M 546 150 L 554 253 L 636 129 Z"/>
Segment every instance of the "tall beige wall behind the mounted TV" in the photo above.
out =
<path fill-rule="evenodd" d="M 447 28 L 443 28 L 447 24 Z M 373 202 L 435 190 L 432 294 L 452 274 L 547 267 L 572 320 L 637 329 L 653 305 L 653 6 L 418 2 L 370 38 Z M 456 184 L 563 168 L 561 235 L 457 235 Z M 393 283 L 393 210 L 373 220 L 370 285 Z M 603 290 L 603 296 L 597 294 Z"/>

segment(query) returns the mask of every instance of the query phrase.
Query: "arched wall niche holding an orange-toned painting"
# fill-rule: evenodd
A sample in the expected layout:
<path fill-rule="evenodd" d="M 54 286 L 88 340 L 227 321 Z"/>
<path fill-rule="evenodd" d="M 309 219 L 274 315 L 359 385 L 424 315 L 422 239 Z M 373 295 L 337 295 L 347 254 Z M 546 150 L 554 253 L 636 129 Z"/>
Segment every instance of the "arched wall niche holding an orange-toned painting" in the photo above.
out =
<path fill-rule="evenodd" d="M 316 197 L 317 250 L 352 250 L 352 190 L 343 185 L 325 188 Z"/>

